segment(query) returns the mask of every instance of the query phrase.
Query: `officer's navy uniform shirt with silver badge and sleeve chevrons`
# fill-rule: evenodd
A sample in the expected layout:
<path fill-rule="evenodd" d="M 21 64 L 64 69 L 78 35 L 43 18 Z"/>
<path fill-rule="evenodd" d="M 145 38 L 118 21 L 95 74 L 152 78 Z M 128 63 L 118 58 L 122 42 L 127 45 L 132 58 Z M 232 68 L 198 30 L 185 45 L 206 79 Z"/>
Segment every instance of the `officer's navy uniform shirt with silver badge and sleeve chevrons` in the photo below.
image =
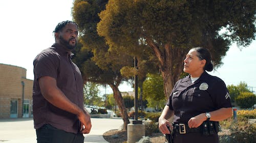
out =
<path fill-rule="evenodd" d="M 207 72 L 194 83 L 190 75 L 178 80 L 166 105 L 174 110 L 174 123 L 187 123 L 200 113 L 232 107 L 224 81 Z"/>

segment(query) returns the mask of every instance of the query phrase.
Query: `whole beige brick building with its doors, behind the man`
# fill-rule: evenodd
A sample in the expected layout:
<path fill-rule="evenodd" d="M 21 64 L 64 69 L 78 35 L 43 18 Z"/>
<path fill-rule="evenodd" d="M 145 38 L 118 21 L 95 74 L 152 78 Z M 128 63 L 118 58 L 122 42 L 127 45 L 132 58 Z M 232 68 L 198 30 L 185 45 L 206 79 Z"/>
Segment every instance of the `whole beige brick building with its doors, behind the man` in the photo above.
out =
<path fill-rule="evenodd" d="M 0 64 L 0 118 L 33 117 L 33 80 L 22 67 Z"/>

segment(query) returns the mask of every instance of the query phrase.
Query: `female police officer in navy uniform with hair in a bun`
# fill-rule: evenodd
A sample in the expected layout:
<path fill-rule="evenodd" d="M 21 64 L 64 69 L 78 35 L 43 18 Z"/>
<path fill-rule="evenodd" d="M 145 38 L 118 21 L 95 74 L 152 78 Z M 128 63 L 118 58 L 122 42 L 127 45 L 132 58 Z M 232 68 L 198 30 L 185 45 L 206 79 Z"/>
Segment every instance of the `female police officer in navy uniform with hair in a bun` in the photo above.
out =
<path fill-rule="evenodd" d="M 189 75 L 176 82 L 159 118 L 159 130 L 173 142 L 219 142 L 219 122 L 232 116 L 230 96 L 223 80 L 209 75 L 211 56 L 206 48 L 190 49 L 183 71 Z M 205 71 L 206 70 L 206 71 Z M 174 116 L 173 123 L 168 119 Z"/>

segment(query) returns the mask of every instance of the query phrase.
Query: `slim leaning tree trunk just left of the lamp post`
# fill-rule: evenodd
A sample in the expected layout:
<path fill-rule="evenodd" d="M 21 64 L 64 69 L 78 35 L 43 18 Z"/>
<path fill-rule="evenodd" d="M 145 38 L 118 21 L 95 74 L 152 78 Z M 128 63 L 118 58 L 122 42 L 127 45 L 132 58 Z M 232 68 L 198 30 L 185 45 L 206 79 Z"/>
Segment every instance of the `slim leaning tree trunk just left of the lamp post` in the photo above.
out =
<path fill-rule="evenodd" d="M 114 84 L 109 84 L 109 85 L 113 90 L 115 101 L 117 102 L 118 108 L 120 110 L 120 113 L 123 119 L 123 130 L 127 130 L 127 124 L 130 123 L 130 120 L 123 102 L 123 97 L 120 91 L 118 90 L 118 87 L 116 87 L 116 85 Z"/>

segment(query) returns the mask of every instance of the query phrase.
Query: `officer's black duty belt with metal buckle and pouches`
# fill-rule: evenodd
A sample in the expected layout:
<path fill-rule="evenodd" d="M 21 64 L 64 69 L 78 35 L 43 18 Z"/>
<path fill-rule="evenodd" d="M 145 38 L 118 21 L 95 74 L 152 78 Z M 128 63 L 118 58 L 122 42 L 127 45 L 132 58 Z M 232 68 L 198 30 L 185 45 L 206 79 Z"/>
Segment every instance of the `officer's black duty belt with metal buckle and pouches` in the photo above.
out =
<path fill-rule="evenodd" d="M 214 121 L 204 121 L 202 125 L 197 128 L 189 128 L 187 124 L 184 123 L 173 123 L 174 133 L 186 134 L 190 132 L 200 132 L 204 135 L 215 134 L 221 131 L 219 122 Z"/>

